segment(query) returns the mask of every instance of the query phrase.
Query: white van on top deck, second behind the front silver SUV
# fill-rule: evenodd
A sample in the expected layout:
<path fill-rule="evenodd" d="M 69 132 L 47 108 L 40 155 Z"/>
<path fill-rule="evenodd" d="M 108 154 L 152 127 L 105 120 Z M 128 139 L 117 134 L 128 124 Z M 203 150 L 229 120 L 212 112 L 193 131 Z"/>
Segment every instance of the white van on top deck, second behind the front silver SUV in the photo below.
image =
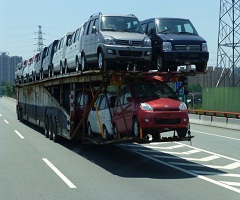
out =
<path fill-rule="evenodd" d="M 65 72 L 64 70 L 64 58 L 65 58 L 65 53 L 67 50 L 67 46 L 69 45 L 68 42 L 70 41 L 69 39 L 71 39 L 73 32 L 68 32 L 65 36 L 63 36 L 59 42 L 57 47 L 55 48 L 55 52 L 53 55 L 53 60 L 52 60 L 52 70 L 54 72 L 52 72 L 52 74 L 54 74 L 55 72 L 62 74 L 63 72 Z M 64 71 L 63 71 L 64 70 Z"/>

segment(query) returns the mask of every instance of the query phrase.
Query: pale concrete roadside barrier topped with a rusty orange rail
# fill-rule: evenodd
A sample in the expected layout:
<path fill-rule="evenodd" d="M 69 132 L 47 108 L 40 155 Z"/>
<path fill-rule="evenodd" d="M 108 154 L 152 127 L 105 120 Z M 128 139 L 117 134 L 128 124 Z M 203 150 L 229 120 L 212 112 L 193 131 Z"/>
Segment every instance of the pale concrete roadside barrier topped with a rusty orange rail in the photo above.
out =
<path fill-rule="evenodd" d="M 240 113 L 235 112 L 189 109 L 189 121 L 193 124 L 240 130 Z"/>

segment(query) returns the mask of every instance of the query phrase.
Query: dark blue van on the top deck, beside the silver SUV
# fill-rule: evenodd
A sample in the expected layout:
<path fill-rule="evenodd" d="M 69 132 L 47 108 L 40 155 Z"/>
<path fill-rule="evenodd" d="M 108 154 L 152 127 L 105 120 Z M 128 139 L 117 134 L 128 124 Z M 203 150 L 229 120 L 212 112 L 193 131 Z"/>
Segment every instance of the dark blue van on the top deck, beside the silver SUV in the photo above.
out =
<path fill-rule="evenodd" d="M 152 40 L 152 61 L 160 71 L 177 71 L 178 66 L 195 65 L 205 72 L 209 58 L 207 42 L 188 19 L 151 18 L 141 22 Z"/>

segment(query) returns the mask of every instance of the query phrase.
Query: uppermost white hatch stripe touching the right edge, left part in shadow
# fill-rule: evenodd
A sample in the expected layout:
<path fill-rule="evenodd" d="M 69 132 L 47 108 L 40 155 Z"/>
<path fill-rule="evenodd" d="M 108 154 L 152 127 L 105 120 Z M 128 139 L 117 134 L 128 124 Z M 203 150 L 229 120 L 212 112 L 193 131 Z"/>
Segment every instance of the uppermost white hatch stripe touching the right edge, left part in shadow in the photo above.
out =
<path fill-rule="evenodd" d="M 183 162 L 170 162 L 173 165 L 181 165 L 181 166 L 191 166 L 191 167 L 210 167 L 213 169 L 236 169 L 240 167 L 239 162 L 235 162 L 229 165 L 225 166 L 216 166 L 216 165 L 204 165 L 204 164 L 198 164 L 198 163 L 183 163 Z"/>

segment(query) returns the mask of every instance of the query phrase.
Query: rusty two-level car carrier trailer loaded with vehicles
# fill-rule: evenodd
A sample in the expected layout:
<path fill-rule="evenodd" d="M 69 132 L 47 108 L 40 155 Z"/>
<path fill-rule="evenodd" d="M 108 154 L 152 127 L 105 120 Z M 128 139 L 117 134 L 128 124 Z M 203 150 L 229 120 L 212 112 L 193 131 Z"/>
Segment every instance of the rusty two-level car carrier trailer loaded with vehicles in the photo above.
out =
<path fill-rule="evenodd" d="M 157 79 L 163 82 L 181 82 L 178 87 L 187 88 L 187 77 L 195 76 L 190 72 L 140 72 L 140 71 L 107 71 L 90 70 L 84 72 L 72 72 L 59 74 L 42 80 L 17 84 L 17 118 L 23 122 L 27 121 L 44 129 L 47 138 L 57 142 L 59 137 L 69 140 L 79 139 L 82 143 L 113 144 L 113 143 L 150 143 L 169 141 L 191 141 L 190 125 L 185 137 L 153 138 L 151 133 L 143 135 L 140 127 L 140 136 L 132 134 L 120 135 L 109 140 L 104 139 L 104 133 L 100 136 L 89 136 L 86 131 L 86 119 L 90 109 L 96 103 L 96 99 L 102 91 L 109 87 L 119 87 L 126 80 L 133 79 Z M 76 98 L 80 93 L 91 93 L 91 101 L 84 102 L 82 116 L 79 118 L 76 106 Z M 178 93 L 178 91 L 176 91 Z M 96 123 L 98 123 L 96 121 Z"/>

